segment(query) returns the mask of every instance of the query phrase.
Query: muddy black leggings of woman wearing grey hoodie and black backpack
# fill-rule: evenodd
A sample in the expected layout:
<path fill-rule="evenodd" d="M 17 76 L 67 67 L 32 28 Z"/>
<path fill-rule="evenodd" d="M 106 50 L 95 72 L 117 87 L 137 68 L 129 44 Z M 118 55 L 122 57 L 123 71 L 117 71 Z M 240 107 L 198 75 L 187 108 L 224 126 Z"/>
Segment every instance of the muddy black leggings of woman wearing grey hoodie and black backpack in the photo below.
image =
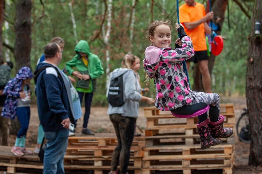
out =
<path fill-rule="evenodd" d="M 109 115 L 117 135 L 117 147 L 113 151 L 111 171 L 116 171 L 120 165 L 120 173 L 126 173 L 130 158 L 130 148 L 134 138 L 136 118 L 123 117 L 121 114 Z"/>

